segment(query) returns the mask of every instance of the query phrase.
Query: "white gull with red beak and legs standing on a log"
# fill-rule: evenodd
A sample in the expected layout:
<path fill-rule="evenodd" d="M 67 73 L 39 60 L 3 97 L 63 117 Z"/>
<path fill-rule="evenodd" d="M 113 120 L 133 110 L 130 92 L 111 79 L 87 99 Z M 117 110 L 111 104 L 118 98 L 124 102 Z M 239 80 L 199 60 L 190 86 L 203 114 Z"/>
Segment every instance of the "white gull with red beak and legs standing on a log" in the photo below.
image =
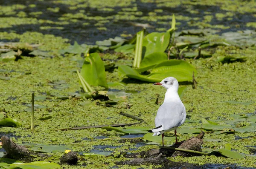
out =
<path fill-rule="evenodd" d="M 162 135 L 163 141 L 164 132 L 175 130 L 175 143 L 177 144 L 176 129 L 186 120 L 186 109 L 178 95 L 179 83 L 174 77 L 167 77 L 160 83 L 154 83 L 153 85 L 161 85 L 166 88 L 167 91 L 163 104 L 157 111 L 155 118 L 156 128 L 151 129 L 151 132 L 154 132 L 153 136 Z"/>

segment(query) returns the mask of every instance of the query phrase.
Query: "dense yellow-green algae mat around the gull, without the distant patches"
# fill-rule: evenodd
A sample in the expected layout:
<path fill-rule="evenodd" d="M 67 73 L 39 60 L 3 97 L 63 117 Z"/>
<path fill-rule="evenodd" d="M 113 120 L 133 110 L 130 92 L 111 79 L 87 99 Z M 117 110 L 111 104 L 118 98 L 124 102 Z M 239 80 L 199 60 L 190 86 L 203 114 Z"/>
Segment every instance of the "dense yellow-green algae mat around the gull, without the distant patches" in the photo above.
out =
<path fill-rule="evenodd" d="M 49 39 L 56 38 L 58 40 L 52 41 L 51 47 L 48 44 L 43 44 L 42 49 L 57 50 L 65 45 L 65 40 L 51 35 L 40 35 L 34 33 L 36 36 L 31 36 L 31 33 L 17 35 L 21 38 L 20 41 L 29 41 L 38 43 L 38 37 L 41 40 L 47 42 Z M 29 36 L 30 35 L 30 36 Z M 38 36 L 39 35 L 39 36 Z M 5 33 L 2 35 L 5 37 L 15 37 L 12 34 Z M 16 38 L 17 38 L 16 37 Z M 29 37 L 29 38 L 28 38 Z M 35 38 L 37 37 L 37 38 Z M 40 39 L 40 38 L 39 38 Z M 63 45 L 61 45 L 63 43 Z M 58 44 L 58 45 L 57 45 Z M 248 59 L 244 62 L 234 63 L 216 63 L 214 59 L 207 61 L 206 59 L 199 58 L 198 60 L 187 59 L 192 65 L 197 67 L 198 76 L 198 89 L 192 89 L 192 86 L 187 86 L 182 100 L 186 106 L 188 116 L 191 120 L 198 121 L 202 117 L 210 117 L 210 120 L 218 118 L 227 118 L 233 114 L 243 114 L 254 112 L 256 104 L 254 82 L 251 80 L 251 76 L 256 70 L 255 66 L 255 47 L 247 49 L 239 49 L 235 46 L 218 46 L 213 54 L 213 58 L 217 59 L 219 55 L 226 53 L 236 52 L 238 54 L 244 54 Z M 119 59 L 122 55 L 101 55 L 103 59 Z M 119 150 L 125 152 L 140 152 L 148 149 L 151 145 L 146 145 L 137 148 L 137 150 L 127 150 L 123 146 L 129 146 L 136 148 L 135 143 L 131 143 L 128 140 L 125 142 L 119 142 L 118 140 L 99 141 L 96 137 L 120 137 L 124 134 L 115 131 L 106 131 L 104 129 L 86 129 L 86 130 L 68 130 L 68 131 L 56 131 L 55 129 L 62 129 L 74 126 L 94 126 L 111 123 L 134 123 L 133 119 L 119 115 L 119 112 L 126 112 L 132 115 L 137 115 L 145 120 L 145 123 L 141 123 L 136 126 L 153 127 L 154 116 L 158 109 L 158 105 L 154 104 L 156 94 L 159 94 L 160 103 L 163 102 L 165 89 L 156 88 L 151 83 L 127 83 L 126 86 L 115 86 L 113 89 L 129 89 L 140 91 L 140 93 L 130 95 L 128 100 L 122 100 L 118 102 L 117 107 L 105 107 L 95 106 L 95 104 L 87 104 L 87 106 L 81 106 L 84 102 L 84 98 L 72 98 L 66 100 L 54 100 L 54 95 L 67 95 L 67 92 L 76 92 L 80 90 L 80 85 L 76 73 L 67 70 L 77 68 L 76 61 L 70 59 L 71 55 L 67 57 L 59 58 L 54 57 L 52 59 L 45 58 L 30 58 L 23 57 L 23 59 L 17 62 L 9 62 L 1 64 L 2 69 L 12 72 L 0 72 L 0 75 L 7 74 L 11 77 L 8 81 L 1 81 L 3 91 L 1 92 L 0 103 L 1 109 L 6 112 L 8 117 L 15 119 L 22 119 L 22 126 L 19 128 L 1 128 L 2 132 L 13 132 L 16 136 L 12 139 L 16 143 L 46 143 L 46 144 L 65 144 L 73 151 L 78 152 L 90 152 L 94 146 L 106 146 L 103 151 L 114 151 L 117 148 L 107 148 L 108 146 L 117 146 Z M 126 56 L 127 58 L 132 56 Z M 33 69 L 33 65 L 37 65 L 37 69 Z M 31 74 L 26 74 L 31 72 Z M 116 69 L 111 72 L 106 72 L 107 82 L 120 81 L 122 77 L 119 76 Z M 68 88 L 55 89 L 49 86 L 48 83 L 55 80 L 65 80 L 64 83 L 68 84 Z M 22 85 L 17 85 L 22 84 Z M 184 86 L 182 83 L 180 86 Z M 46 106 L 47 108 L 37 108 L 35 110 L 35 130 L 29 130 L 30 113 L 22 112 L 27 107 L 22 103 L 29 103 L 31 92 L 34 91 L 35 95 L 42 95 L 44 93 L 50 93 L 45 100 L 36 100 L 35 104 Z M 16 100 L 9 100 L 9 97 L 16 96 Z M 251 104 L 227 104 L 224 103 L 229 100 L 236 100 L 236 102 L 250 102 Z M 96 103 L 93 100 L 87 100 L 91 103 Z M 124 106 L 130 104 L 129 109 Z M 3 106 L 4 105 L 4 106 Z M 21 112 L 19 112 L 21 111 Z M 52 118 L 46 120 L 40 120 L 41 117 L 52 116 Z M 239 125 L 248 125 L 239 123 Z M 184 126 L 196 127 L 201 126 L 201 123 L 185 123 Z M 56 137 L 56 135 L 58 137 Z M 178 137 L 179 140 L 185 140 L 195 134 L 183 134 Z M 56 140 L 52 140 L 55 137 Z M 86 139 L 85 139 L 86 138 Z M 205 141 L 203 147 L 219 149 L 225 146 L 226 143 L 230 143 L 231 148 L 235 149 L 239 153 L 251 154 L 250 149 L 247 146 L 255 145 L 255 133 L 234 133 L 234 134 L 221 134 L 215 135 L 209 132 L 206 133 L 205 138 L 208 139 L 221 139 L 221 142 Z M 237 139 L 238 138 L 238 139 Z M 89 158 L 84 157 L 87 162 L 80 161 L 79 163 L 87 163 L 88 167 L 95 167 L 97 165 L 103 165 L 102 160 L 105 163 L 111 162 L 108 167 L 114 166 L 113 160 L 124 160 L 123 158 Z M 205 163 L 236 163 L 238 165 L 253 166 L 253 157 L 246 157 L 240 160 L 230 160 L 223 157 L 216 156 L 203 156 L 203 157 L 175 157 L 169 158 L 175 161 L 184 161 L 189 163 L 198 163 L 200 165 Z M 211 159 L 209 161 L 209 159 Z M 125 168 L 126 166 L 121 166 Z M 148 166 L 150 167 L 150 166 Z"/>

